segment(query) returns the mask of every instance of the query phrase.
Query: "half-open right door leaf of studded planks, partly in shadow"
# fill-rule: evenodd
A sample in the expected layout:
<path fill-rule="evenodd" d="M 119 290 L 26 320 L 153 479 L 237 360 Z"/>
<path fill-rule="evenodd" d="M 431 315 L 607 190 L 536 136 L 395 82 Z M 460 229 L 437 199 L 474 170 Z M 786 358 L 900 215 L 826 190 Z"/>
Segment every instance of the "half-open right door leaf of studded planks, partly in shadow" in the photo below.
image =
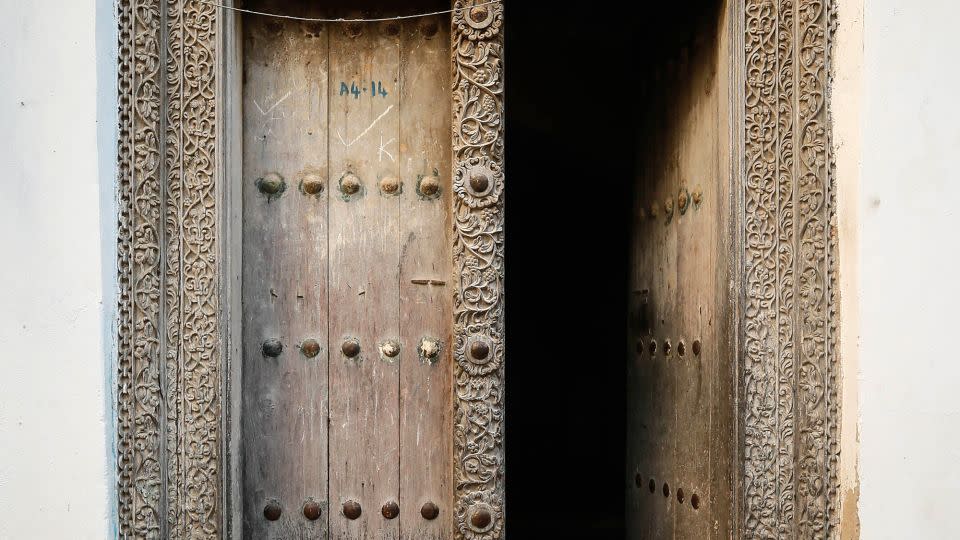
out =
<path fill-rule="evenodd" d="M 715 25 L 715 26 L 710 26 Z M 735 471 L 729 55 L 723 21 L 650 74 L 627 362 L 631 539 L 731 538 Z"/>

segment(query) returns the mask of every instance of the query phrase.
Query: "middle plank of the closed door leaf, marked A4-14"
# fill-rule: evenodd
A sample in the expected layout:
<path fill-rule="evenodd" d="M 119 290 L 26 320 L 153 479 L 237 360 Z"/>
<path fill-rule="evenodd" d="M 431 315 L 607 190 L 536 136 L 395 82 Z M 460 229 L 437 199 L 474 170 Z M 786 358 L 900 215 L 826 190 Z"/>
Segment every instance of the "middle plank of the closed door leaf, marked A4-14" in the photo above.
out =
<path fill-rule="evenodd" d="M 400 25 L 330 32 L 331 538 L 399 536 Z M 355 193 L 342 191 L 357 183 Z M 356 356 L 343 343 L 355 340 Z M 389 342 L 401 355 L 389 356 Z M 360 505 L 350 519 L 343 505 Z"/>

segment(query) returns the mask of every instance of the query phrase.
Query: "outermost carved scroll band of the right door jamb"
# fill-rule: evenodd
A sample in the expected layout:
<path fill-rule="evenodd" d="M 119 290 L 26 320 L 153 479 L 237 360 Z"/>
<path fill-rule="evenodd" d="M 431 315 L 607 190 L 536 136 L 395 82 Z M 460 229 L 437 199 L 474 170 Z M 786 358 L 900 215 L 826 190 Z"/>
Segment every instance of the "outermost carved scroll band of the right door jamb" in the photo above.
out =
<path fill-rule="evenodd" d="M 835 520 L 828 513 L 836 470 L 829 467 L 827 424 L 830 403 L 837 401 L 837 386 L 830 384 L 834 370 L 829 311 L 827 258 L 834 233 L 828 174 L 827 49 L 830 21 L 821 0 L 801 2 L 797 12 L 797 300 L 800 364 L 798 366 L 798 478 L 797 534 L 800 538 L 827 538 Z M 831 395 L 832 394 L 832 395 Z M 835 436 L 836 434 L 833 434 Z"/>

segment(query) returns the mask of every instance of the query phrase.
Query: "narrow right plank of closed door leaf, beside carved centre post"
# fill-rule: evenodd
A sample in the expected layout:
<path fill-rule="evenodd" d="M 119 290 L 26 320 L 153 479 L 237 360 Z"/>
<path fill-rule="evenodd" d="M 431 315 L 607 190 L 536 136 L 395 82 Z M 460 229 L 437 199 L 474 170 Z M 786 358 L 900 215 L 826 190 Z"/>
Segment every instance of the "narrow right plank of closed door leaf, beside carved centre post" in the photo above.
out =
<path fill-rule="evenodd" d="M 439 540 L 453 535 L 450 25 L 407 22 L 401 57 L 400 536 Z"/>

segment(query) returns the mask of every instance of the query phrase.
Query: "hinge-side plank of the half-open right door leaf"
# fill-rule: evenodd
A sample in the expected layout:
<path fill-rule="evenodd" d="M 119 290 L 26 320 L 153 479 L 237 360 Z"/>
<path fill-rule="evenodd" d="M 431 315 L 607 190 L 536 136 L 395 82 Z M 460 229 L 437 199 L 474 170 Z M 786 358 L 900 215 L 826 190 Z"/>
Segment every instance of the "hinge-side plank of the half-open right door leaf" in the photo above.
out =
<path fill-rule="evenodd" d="M 683 339 L 684 354 L 680 356 L 677 345 L 678 401 L 677 437 L 677 486 L 683 489 L 683 502 L 674 493 L 676 508 L 677 538 L 709 538 L 712 520 L 708 513 L 693 510 L 690 499 L 694 493 L 698 500 L 706 493 L 710 478 L 710 453 L 713 448 L 710 419 L 714 414 L 716 360 L 705 363 L 702 350 L 693 352 L 693 341 L 701 345 L 713 343 L 713 336 L 704 336 L 704 326 L 709 327 L 714 318 L 721 296 L 715 288 L 715 272 L 718 262 L 717 224 L 714 215 L 704 211 L 705 203 L 693 202 L 693 195 L 706 186 L 718 182 L 717 162 L 717 92 L 713 76 L 710 51 L 695 49 L 689 58 L 689 69 L 682 74 L 688 90 L 681 94 L 681 109 L 685 113 L 677 118 L 679 141 L 682 144 L 680 177 L 674 197 L 677 204 L 677 231 L 680 249 L 677 253 L 677 272 L 680 287 L 677 291 L 678 313 L 677 339 Z M 686 56 L 689 49 L 684 49 Z M 685 201 L 685 202 L 684 202 Z M 710 201 L 709 208 L 715 208 Z M 703 502 L 700 500 L 700 502 Z"/>

